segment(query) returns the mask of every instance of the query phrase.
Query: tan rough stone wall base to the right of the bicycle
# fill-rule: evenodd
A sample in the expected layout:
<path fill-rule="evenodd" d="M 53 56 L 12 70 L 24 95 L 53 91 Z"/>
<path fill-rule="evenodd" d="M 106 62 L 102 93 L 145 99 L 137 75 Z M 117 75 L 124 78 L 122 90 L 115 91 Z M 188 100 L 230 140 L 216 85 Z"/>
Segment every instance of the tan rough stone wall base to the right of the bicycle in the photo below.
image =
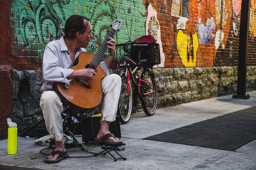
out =
<path fill-rule="evenodd" d="M 179 105 L 237 92 L 237 67 L 154 69 L 158 107 Z M 246 90 L 256 89 L 256 67 L 247 67 Z"/>

